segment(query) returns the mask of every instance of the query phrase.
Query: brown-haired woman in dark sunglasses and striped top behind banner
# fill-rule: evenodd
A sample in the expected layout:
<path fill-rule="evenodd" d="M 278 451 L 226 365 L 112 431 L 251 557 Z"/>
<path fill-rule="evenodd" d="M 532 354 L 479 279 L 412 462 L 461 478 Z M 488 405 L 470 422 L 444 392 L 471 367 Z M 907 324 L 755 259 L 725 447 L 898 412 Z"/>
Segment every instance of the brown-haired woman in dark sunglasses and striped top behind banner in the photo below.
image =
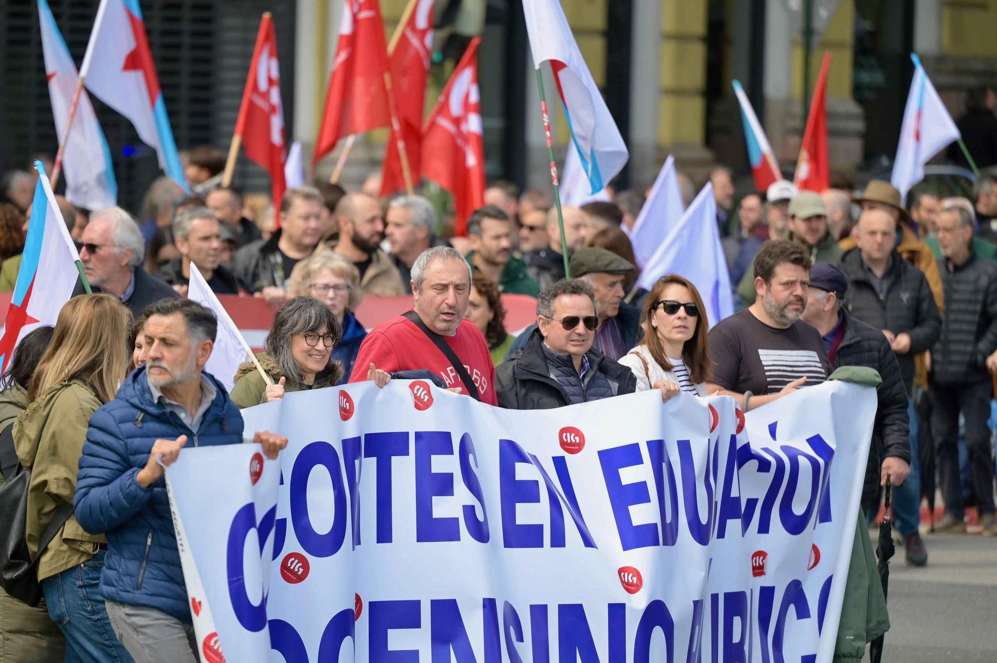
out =
<path fill-rule="evenodd" d="M 668 400 L 684 391 L 707 395 L 709 323 L 696 286 L 669 274 L 658 279 L 641 316 L 644 337 L 620 358 L 637 378 L 637 391 L 661 389 Z"/>

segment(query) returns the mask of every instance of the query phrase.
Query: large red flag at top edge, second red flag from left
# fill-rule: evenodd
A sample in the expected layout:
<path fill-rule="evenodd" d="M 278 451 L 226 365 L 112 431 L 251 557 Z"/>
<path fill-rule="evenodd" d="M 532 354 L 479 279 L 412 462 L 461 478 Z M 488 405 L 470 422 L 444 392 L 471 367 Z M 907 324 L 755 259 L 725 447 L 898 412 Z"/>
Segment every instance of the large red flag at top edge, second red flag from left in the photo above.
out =
<path fill-rule="evenodd" d="M 345 0 L 312 167 L 351 133 L 391 124 L 384 74 L 388 53 L 378 0 Z"/>

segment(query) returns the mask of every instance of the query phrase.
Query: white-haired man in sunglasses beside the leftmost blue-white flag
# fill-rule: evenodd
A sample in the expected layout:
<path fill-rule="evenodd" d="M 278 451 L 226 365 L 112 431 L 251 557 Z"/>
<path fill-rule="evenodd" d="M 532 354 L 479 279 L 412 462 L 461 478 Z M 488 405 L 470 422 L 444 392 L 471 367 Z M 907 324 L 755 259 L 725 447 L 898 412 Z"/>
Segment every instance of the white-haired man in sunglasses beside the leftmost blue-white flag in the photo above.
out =
<path fill-rule="evenodd" d="M 176 297 L 173 289 L 142 269 L 146 241 L 139 224 L 121 207 L 94 212 L 83 231 L 80 261 L 95 293 L 114 295 L 138 318 L 153 302 Z M 73 295 L 84 293 L 80 282 Z"/>

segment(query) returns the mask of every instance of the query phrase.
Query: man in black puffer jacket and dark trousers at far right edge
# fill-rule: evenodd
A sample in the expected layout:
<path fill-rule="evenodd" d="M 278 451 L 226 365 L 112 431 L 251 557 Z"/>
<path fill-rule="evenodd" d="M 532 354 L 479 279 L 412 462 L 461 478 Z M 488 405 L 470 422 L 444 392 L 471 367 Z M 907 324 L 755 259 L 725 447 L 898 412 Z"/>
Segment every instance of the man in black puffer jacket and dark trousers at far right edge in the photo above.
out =
<path fill-rule="evenodd" d="M 945 317 L 941 336 L 931 349 L 928 393 L 945 515 L 935 523 L 935 531 L 966 531 L 956 447 L 962 414 L 979 524 L 985 536 L 997 536 L 994 462 L 987 427 L 992 386 L 986 365 L 997 350 L 997 263 L 979 258 L 970 249 L 973 217 L 965 208 L 946 204 L 937 225 Z"/>

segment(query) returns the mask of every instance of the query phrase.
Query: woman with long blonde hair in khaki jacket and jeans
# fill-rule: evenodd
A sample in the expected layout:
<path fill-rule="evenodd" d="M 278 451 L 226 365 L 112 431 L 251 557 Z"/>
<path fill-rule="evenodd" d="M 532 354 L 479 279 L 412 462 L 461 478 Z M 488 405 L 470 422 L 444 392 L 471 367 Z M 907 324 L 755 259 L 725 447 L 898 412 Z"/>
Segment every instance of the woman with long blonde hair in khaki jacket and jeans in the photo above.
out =
<path fill-rule="evenodd" d="M 82 295 L 59 313 L 28 388 L 31 404 L 14 423 L 18 458 L 32 470 L 25 526 L 32 556 L 58 506 L 73 504 L 91 415 L 115 397 L 132 367 L 131 325 L 129 310 L 110 295 Z M 49 616 L 66 636 L 67 661 L 132 661 L 99 588 L 106 552 L 104 537 L 70 516 L 39 558 L 38 579 Z"/>

